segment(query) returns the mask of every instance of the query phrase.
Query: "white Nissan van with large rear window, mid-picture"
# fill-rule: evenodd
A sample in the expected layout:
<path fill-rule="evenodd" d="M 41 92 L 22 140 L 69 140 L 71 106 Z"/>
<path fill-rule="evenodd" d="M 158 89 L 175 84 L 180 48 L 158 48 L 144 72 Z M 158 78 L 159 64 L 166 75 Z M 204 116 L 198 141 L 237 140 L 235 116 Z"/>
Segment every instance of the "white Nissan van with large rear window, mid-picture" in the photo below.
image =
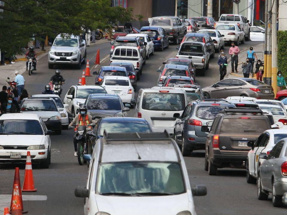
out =
<path fill-rule="evenodd" d="M 186 92 L 181 87 L 140 89 L 135 117 L 146 119 L 154 132 L 167 130 L 173 136 L 176 118 L 181 116 L 187 104 Z"/>

